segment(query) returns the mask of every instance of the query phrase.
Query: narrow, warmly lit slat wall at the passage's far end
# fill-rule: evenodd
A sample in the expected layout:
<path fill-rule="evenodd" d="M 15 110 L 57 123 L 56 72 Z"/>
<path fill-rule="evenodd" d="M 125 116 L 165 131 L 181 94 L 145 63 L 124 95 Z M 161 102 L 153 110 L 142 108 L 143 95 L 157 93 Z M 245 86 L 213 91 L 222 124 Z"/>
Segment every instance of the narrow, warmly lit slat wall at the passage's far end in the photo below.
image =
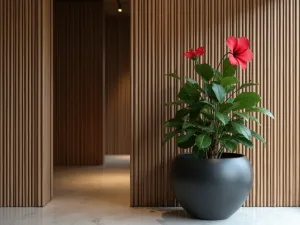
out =
<path fill-rule="evenodd" d="M 130 154 L 130 17 L 107 16 L 105 27 L 106 154 Z"/>

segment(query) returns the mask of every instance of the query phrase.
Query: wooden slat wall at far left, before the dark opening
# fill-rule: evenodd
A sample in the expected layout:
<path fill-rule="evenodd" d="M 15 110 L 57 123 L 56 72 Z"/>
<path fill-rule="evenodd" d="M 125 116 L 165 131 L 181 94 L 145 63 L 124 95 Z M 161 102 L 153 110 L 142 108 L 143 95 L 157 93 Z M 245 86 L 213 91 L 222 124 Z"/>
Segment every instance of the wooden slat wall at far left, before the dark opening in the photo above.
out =
<path fill-rule="evenodd" d="M 0 0 L 0 206 L 52 197 L 52 0 Z"/>

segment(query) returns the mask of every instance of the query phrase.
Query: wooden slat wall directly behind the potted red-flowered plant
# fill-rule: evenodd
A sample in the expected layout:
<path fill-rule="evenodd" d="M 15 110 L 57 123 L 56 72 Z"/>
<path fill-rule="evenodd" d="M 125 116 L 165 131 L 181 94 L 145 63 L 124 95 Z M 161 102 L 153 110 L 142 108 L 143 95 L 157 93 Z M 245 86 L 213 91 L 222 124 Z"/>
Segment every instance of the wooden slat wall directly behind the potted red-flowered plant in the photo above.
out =
<path fill-rule="evenodd" d="M 204 45 L 203 62 L 217 65 L 230 35 L 251 40 L 254 60 L 242 81 L 255 91 L 276 120 L 260 116 L 268 147 L 255 142 L 241 149 L 254 167 L 254 187 L 246 206 L 300 206 L 300 2 L 298 0 L 131 0 L 133 153 L 132 206 L 173 206 L 169 167 L 179 152 L 161 146 L 163 122 L 174 114 L 164 103 L 175 99 L 179 83 L 164 74 L 195 76 L 182 53 Z"/>

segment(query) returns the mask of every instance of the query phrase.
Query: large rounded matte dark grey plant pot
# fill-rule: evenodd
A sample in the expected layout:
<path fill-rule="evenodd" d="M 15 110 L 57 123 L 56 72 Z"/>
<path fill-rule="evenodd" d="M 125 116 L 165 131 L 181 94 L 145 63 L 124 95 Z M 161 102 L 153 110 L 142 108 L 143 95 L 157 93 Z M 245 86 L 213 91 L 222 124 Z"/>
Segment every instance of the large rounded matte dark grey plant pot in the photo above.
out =
<path fill-rule="evenodd" d="M 252 187 L 252 166 L 244 155 L 224 153 L 221 159 L 180 154 L 171 169 L 172 186 L 186 212 L 204 220 L 222 220 L 246 201 Z"/>

